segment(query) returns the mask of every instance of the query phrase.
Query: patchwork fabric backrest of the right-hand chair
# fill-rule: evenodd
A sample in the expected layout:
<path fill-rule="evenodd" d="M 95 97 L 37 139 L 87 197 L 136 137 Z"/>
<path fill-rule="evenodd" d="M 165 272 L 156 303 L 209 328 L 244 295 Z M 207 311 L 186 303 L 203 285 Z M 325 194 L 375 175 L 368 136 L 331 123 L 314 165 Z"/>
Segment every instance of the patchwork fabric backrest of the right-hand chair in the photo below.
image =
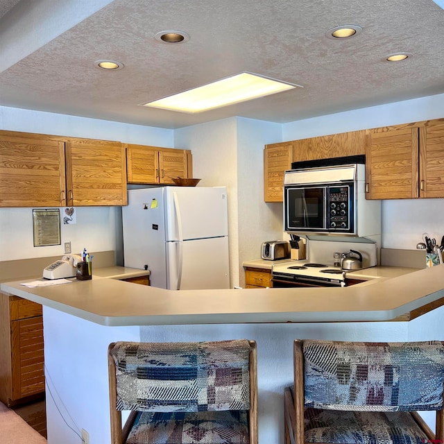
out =
<path fill-rule="evenodd" d="M 443 408 L 441 342 L 303 341 L 305 406 L 334 410 Z"/>

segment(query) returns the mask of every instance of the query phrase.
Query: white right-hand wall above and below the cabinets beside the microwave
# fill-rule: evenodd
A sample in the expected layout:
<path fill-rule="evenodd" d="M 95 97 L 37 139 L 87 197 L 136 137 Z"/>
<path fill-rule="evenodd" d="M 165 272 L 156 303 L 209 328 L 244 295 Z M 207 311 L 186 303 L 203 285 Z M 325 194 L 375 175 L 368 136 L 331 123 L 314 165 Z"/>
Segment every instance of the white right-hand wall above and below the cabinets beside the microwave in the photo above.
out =
<path fill-rule="evenodd" d="M 443 117 L 444 94 L 438 94 L 285 123 L 282 134 L 283 140 L 296 140 Z M 423 232 L 439 243 L 443 220 L 444 199 L 383 200 L 382 247 L 413 250 Z"/>

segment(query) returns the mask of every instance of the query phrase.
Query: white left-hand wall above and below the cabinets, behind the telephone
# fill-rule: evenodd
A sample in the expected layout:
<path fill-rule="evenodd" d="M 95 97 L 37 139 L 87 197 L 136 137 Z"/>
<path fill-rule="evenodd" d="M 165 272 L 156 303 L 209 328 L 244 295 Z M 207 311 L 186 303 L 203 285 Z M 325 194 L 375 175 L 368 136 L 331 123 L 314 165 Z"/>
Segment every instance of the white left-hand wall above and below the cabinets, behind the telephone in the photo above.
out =
<path fill-rule="evenodd" d="M 0 129 L 173 147 L 172 130 L 18 108 L 0 107 Z M 34 247 L 32 210 L 0 208 L 0 262 L 62 255 L 65 241 L 73 253 L 120 248 L 120 207 L 77 207 L 76 225 L 61 225 L 62 245 L 44 247 Z"/>

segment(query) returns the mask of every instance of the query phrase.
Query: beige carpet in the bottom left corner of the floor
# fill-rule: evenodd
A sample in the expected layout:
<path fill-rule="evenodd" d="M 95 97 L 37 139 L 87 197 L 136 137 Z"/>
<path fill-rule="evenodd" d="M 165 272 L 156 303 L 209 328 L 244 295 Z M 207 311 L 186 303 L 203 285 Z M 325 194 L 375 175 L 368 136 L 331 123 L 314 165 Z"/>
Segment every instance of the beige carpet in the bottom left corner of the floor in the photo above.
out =
<path fill-rule="evenodd" d="M 1 444 L 47 444 L 39 432 L 0 402 Z"/>

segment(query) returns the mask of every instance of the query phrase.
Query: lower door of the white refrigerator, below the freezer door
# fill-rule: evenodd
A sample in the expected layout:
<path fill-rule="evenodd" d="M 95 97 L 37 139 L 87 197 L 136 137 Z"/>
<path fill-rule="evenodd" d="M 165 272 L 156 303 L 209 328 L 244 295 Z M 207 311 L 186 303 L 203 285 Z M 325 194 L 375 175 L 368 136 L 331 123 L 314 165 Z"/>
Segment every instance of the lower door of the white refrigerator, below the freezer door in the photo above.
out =
<path fill-rule="evenodd" d="M 228 237 L 168 242 L 167 264 L 167 289 L 230 288 Z"/>

